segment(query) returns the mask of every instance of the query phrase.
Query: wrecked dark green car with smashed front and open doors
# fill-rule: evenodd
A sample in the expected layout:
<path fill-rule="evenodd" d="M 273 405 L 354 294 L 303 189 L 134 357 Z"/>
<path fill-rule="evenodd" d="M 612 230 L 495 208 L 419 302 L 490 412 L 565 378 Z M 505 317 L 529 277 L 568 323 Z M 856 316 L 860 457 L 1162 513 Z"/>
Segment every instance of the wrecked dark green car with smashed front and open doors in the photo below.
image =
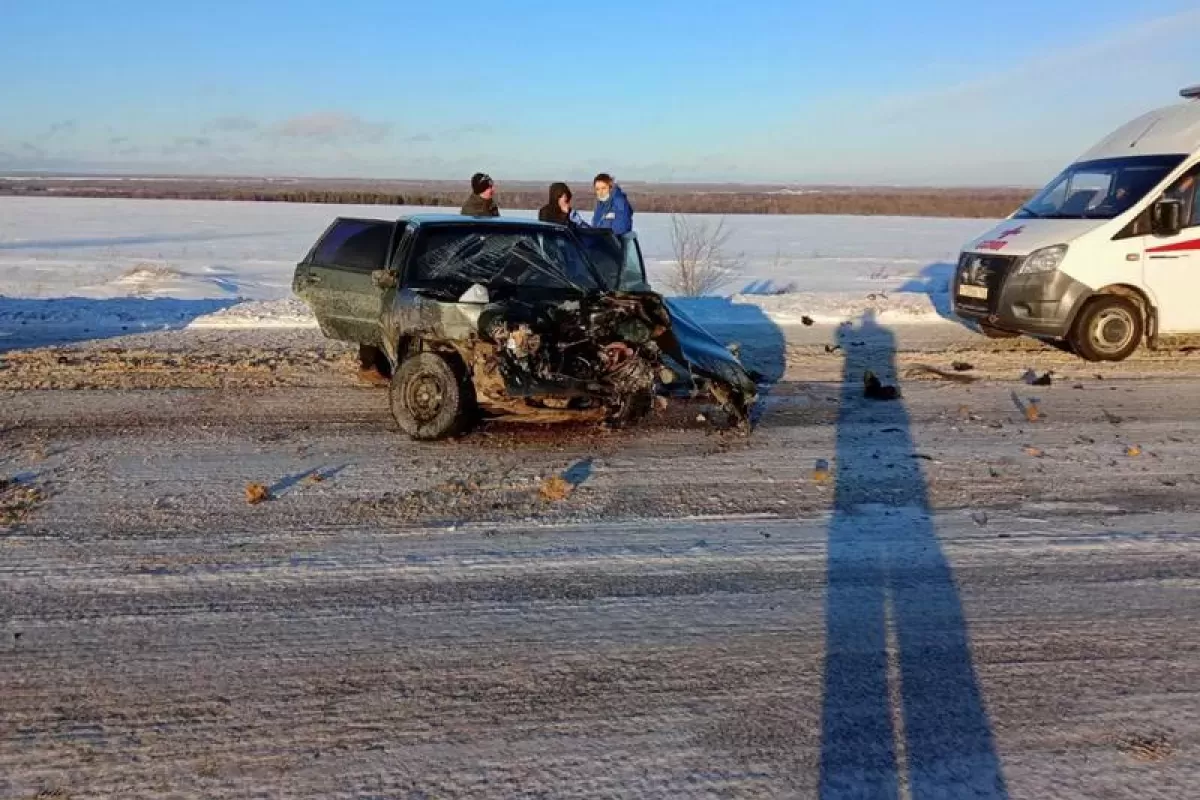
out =
<path fill-rule="evenodd" d="M 636 237 L 523 219 L 336 219 L 293 289 L 325 336 L 376 348 L 414 439 L 481 415 L 629 425 L 706 392 L 734 423 L 756 384 L 652 291 Z"/>

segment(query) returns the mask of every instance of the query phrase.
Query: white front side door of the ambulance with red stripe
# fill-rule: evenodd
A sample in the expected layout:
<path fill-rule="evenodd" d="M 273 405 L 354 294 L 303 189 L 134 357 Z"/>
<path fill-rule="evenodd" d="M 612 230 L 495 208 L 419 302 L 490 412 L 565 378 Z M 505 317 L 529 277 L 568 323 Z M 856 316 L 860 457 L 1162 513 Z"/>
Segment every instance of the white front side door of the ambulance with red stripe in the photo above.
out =
<path fill-rule="evenodd" d="M 1183 228 L 1174 236 L 1142 237 L 1146 285 L 1158 302 L 1162 332 L 1200 330 L 1200 166 L 1190 169 L 1164 197 L 1182 203 Z"/>

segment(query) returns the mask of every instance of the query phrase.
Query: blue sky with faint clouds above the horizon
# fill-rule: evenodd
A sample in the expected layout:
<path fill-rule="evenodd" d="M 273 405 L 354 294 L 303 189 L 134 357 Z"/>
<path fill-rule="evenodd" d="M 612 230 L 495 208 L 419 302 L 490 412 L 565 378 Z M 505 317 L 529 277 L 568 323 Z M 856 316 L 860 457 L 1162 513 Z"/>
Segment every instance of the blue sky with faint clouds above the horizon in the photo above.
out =
<path fill-rule="evenodd" d="M 1195 0 L 0 0 L 0 170 L 1038 184 Z"/>

